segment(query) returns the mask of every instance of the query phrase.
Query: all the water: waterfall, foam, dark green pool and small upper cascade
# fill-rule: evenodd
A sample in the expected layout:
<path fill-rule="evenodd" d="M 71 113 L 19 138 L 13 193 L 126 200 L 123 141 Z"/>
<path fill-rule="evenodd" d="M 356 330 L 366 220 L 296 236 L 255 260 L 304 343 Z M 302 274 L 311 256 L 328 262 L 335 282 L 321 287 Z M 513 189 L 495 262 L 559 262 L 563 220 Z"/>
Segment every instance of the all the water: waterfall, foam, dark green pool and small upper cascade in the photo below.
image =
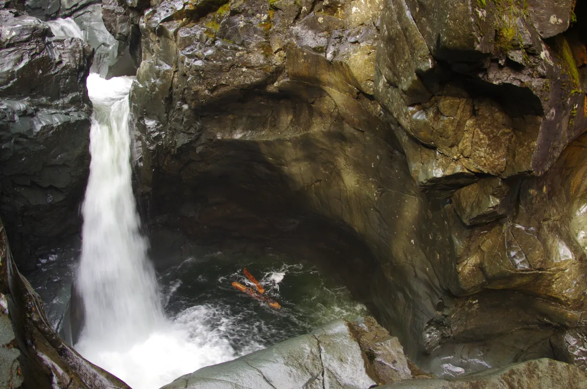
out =
<path fill-rule="evenodd" d="M 69 21 L 56 36 L 82 36 Z M 157 275 L 131 185 L 129 91 L 133 77 L 92 73 L 90 176 L 82 206 L 82 250 L 75 284 L 84 320 L 74 347 L 133 389 L 156 389 L 180 375 L 367 313 L 349 291 L 311 263 L 279 255 L 185 258 Z M 282 308 L 231 287 L 258 276 Z"/>

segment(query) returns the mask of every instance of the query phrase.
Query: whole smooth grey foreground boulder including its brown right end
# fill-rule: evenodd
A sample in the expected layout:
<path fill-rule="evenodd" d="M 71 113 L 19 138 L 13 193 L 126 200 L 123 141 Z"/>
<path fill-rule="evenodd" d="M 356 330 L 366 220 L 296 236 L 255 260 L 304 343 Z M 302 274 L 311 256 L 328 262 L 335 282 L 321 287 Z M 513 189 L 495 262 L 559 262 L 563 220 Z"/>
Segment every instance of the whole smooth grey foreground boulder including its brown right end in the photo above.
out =
<path fill-rule="evenodd" d="M 161 389 L 367 389 L 410 378 L 414 373 L 397 338 L 366 317 L 332 321 L 311 334 L 183 375 Z"/>

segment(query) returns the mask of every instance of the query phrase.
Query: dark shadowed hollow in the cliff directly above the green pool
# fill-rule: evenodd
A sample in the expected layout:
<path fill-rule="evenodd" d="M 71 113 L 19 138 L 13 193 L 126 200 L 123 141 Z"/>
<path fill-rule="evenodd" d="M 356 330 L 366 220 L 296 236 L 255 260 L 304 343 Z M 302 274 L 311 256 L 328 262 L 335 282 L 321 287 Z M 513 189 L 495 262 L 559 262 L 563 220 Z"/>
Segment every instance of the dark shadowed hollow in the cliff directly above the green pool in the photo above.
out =
<path fill-rule="evenodd" d="M 316 152 L 311 142 L 303 147 Z M 303 258 L 345 284 L 375 313 L 370 286 L 379 267 L 372 253 L 348 225 L 309 210 L 295 183 L 278 168 L 282 163 L 269 161 L 257 142 L 212 142 L 181 176 L 154 177 L 153 192 L 143 197 L 149 204 L 143 216 L 147 234 L 163 226 L 178 230 L 198 242 L 202 255 L 276 250 Z M 158 270 L 175 264 L 166 250 L 157 251 L 153 247 L 151 257 Z"/>

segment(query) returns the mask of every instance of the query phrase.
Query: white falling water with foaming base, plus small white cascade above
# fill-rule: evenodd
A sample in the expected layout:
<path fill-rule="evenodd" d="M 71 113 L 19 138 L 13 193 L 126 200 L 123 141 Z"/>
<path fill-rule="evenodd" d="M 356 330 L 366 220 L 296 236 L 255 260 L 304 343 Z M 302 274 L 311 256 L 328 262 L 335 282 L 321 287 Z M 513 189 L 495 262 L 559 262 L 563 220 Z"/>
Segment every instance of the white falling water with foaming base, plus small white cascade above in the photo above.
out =
<path fill-rule="evenodd" d="M 73 24 L 73 25 L 72 25 Z M 75 22 L 50 22 L 55 36 L 82 36 Z M 155 389 L 180 375 L 235 356 L 220 331 L 204 324 L 205 307 L 175 320 L 163 314 L 148 242 L 131 186 L 129 91 L 134 78 L 92 73 L 90 176 L 83 203 L 77 286 L 85 322 L 75 348 L 133 389 Z"/>

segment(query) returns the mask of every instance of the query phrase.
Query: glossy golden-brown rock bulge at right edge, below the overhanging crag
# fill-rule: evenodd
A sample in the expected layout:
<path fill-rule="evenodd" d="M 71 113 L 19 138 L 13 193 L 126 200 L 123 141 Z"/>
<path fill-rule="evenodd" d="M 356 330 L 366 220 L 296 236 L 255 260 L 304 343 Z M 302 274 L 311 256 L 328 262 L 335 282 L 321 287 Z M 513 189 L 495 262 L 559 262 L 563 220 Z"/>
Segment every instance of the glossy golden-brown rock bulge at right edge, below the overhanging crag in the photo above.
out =
<path fill-rule="evenodd" d="M 459 280 L 453 293 L 499 289 L 538 296 L 529 304 L 539 321 L 558 327 L 549 340 L 555 355 L 582 367 L 587 367 L 581 335 L 587 287 L 586 142 L 580 136 L 545 175 L 524 180 L 511 216 L 473 228 L 452 216 Z"/>

